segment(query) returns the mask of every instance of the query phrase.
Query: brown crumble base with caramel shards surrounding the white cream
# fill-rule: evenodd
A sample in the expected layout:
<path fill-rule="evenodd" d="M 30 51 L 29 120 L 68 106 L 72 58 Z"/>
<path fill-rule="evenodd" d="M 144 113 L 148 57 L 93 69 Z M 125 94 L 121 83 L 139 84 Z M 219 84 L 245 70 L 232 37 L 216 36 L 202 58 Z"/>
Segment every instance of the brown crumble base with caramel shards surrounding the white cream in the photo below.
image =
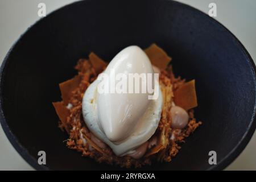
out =
<path fill-rule="evenodd" d="M 90 156 L 97 162 L 117 164 L 121 167 L 141 167 L 154 160 L 170 162 L 180 150 L 180 143 L 201 124 L 196 122 L 193 107 L 197 106 L 195 80 L 185 82 L 175 77 L 171 58 L 155 44 L 144 52 L 153 65 L 154 72 L 160 72 L 159 85 L 163 100 L 160 121 L 154 135 L 129 152 L 113 151 L 113 146 L 96 137 L 90 131 L 82 116 L 82 100 L 86 90 L 103 72 L 108 64 L 94 53 L 89 59 L 80 59 L 76 65 L 78 75 L 60 84 L 63 101 L 53 102 L 60 118 L 60 128 L 69 134 L 67 146 Z M 96 135 L 95 135 L 96 134 Z M 106 140 L 105 140 L 106 141 Z M 122 155 L 121 155 L 122 154 Z M 124 155 L 125 154 L 125 155 Z"/>

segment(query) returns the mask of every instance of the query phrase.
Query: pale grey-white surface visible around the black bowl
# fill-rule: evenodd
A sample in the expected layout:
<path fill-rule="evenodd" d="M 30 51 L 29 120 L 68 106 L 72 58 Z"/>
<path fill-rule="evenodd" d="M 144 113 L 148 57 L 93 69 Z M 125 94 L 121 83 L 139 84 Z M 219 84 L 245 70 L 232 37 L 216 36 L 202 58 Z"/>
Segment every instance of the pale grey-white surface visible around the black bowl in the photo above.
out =
<path fill-rule="evenodd" d="M 108 1 L 108 0 L 106 0 Z M 217 4 L 216 19 L 242 42 L 256 60 L 255 0 L 179 0 L 208 13 L 210 2 Z M 38 3 L 44 2 L 47 14 L 74 0 L 0 0 L 0 63 L 15 40 L 39 19 Z M 22 122 L 22 121 L 20 121 Z M 0 126 L 0 170 L 32 170 L 11 146 Z M 242 154 L 226 169 L 256 170 L 256 135 Z"/>

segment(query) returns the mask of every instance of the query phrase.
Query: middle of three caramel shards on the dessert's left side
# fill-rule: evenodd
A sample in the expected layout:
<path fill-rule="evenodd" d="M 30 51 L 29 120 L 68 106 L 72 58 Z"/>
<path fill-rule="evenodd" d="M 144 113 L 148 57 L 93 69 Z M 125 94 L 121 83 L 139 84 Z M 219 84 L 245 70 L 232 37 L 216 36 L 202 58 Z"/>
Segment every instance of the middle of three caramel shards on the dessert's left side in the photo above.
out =
<path fill-rule="evenodd" d="M 72 91 L 79 87 L 80 81 L 81 78 L 79 76 L 75 76 L 72 79 L 59 84 L 61 97 L 65 105 L 68 105 L 69 99 L 72 96 Z"/>

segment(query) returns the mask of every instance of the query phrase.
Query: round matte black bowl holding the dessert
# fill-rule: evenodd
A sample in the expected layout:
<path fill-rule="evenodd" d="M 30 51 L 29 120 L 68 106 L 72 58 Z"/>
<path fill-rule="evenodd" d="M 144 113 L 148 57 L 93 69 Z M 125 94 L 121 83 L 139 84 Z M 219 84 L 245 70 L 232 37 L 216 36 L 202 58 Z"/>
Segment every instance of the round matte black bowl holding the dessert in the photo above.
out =
<path fill-rule="evenodd" d="M 1 67 L 1 124 L 36 169 L 121 169 L 98 164 L 65 147 L 52 101 L 58 84 L 90 51 L 105 60 L 122 48 L 156 43 L 172 56 L 176 75 L 196 79 L 203 125 L 171 163 L 142 169 L 223 169 L 245 148 L 255 122 L 255 65 L 242 44 L 208 15 L 168 0 L 94 0 L 65 6 L 20 37 Z M 37 163 L 46 151 L 47 165 Z M 208 163 L 217 152 L 217 165 Z"/>

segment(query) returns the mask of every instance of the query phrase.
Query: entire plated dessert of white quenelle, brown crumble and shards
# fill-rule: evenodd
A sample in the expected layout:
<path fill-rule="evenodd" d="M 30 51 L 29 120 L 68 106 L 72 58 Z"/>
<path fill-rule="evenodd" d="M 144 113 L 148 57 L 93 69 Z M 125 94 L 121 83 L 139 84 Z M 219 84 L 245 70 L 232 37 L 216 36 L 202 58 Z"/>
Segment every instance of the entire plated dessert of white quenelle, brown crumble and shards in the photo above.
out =
<path fill-rule="evenodd" d="M 94 53 L 80 59 L 79 73 L 60 84 L 63 101 L 53 102 L 67 146 L 126 168 L 170 162 L 201 124 L 195 80 L 176 78 L 170 61 L 156 44 L 129 46 L 108 65 Z"/>

